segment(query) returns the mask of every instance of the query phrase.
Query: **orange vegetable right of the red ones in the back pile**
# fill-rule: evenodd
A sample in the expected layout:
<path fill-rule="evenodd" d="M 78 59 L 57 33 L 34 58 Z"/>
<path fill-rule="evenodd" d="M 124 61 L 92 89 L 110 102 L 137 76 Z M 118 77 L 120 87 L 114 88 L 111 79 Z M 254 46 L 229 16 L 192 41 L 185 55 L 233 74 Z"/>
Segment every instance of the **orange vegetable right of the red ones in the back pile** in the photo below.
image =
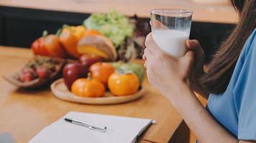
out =
<path fill-rule="evenodd" d="M 70 30 L 62 31 L 59 39 L 69 56 L 79 58 L 80 54 L 77 51 L 78 39 Z"/>

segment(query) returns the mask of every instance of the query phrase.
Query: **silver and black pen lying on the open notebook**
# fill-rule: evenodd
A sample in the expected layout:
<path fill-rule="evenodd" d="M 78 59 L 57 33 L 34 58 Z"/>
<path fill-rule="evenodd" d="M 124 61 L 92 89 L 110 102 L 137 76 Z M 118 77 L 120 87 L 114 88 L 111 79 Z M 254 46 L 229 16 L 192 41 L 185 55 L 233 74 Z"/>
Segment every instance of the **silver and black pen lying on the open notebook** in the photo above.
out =
<path fill-rule="evenodd" d="M 106 127 L 101 126 L 99 124 L 93 124 L 93 123 L 90 123 L 90 122 L 84 122 L 84 121 L 81 121 L 81 120 L 78 120 L 78 119 L 71 119 L 71 118 L 65 118 L 65 121 L 73 123 L 73 124 L 78 124 L 78 125 L 81 125 L 81 126 L 84 126 L 84 127 L 88 127 L 89 129 L 93 129 L 93 130 L 96 130 L 96 131 L 101 131 L 101 132 L 106 131 Z"/>

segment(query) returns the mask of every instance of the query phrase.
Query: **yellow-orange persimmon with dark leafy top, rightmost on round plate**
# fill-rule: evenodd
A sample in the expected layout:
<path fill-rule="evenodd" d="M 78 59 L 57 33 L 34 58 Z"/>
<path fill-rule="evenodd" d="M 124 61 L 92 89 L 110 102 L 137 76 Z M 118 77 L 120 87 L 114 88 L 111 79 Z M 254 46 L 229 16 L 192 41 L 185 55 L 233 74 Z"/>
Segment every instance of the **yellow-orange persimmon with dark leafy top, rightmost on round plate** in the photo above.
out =
<path fill-rule="evenodd" d="M 109 77 L 109 90 L 116 96 L 127 96 L 138 91 L 140 80 L 134 73 L 114 73 Z"/>

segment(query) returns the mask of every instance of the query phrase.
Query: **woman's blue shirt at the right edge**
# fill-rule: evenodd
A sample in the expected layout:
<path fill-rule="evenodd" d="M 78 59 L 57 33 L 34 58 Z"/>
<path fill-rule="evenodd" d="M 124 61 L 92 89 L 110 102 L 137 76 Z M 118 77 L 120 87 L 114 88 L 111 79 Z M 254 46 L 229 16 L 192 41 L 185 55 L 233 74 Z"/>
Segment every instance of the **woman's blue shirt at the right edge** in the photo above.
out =
<path fill-rule="evenodd" d="M 237 139 L 256 140 L 256 29 L 244 44 L 226 92 L 210 94 L 207 106 Z"/>

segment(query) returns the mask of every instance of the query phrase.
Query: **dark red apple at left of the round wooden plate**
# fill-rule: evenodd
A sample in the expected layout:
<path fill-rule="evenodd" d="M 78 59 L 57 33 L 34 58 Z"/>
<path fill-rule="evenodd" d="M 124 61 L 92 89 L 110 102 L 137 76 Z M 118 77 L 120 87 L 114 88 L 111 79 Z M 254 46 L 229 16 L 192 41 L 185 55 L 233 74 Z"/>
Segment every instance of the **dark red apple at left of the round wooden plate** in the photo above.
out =
<path fill-rule="evenodd" d="M 88 75 L 87 66 L 80 63 L 66 64 L 63 69 L 63 78 L 65 85 L 70 90 L 71 85 L 76 79 L 86 78 Z"/>

